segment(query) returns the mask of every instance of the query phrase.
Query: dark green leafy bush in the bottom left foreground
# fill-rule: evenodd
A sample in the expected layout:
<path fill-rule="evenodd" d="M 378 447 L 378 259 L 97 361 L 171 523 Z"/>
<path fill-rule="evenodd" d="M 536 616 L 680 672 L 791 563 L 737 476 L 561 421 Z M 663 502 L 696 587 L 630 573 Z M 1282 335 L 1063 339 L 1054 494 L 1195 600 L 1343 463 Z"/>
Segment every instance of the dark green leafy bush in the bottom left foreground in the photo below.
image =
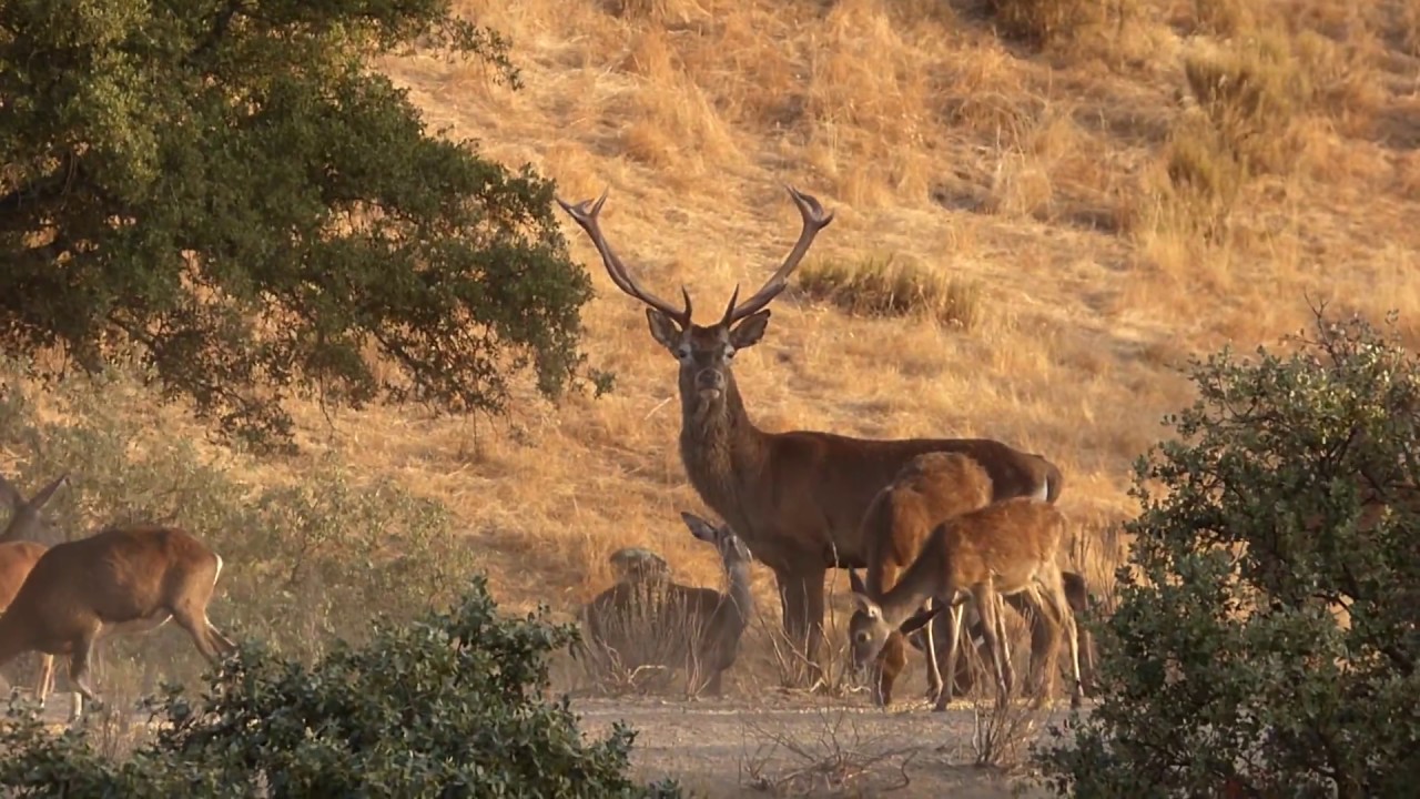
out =
<path fill-rule="evenodd" d="M 449 614 L 381 626 L 311 668 L 244 645 L 192 701 L 153 701 L 165 722 L 122 763 L 82 734 L 11 721 L 0 785 L 99 796 L 679 796 L 628 778 L 635 734 L 586 742 L 567 698 L 548 702 L 547 654 L 575 637 L 542 611 L 506 618 L 483 577 Z"/>

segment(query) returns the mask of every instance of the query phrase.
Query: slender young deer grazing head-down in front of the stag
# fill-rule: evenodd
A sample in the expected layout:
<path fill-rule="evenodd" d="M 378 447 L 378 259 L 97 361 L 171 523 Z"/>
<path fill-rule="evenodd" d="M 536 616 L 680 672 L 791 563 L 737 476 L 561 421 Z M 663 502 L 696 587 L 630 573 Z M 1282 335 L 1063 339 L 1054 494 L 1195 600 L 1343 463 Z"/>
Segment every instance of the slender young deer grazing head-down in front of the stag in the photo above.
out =
<path fill-rule="evenodd" d="M 1065 628 L 1075 678 L 1071 705 L 1079 707 L 1083 690 L 1079 637 L 1065 599 L 1065 580 L 1055 562 L 1064 540 L 1065 516 L 1054 503 L 1034 498 L 995 502 L 943 522 L 880 600 L 853 594 L 858 608 L 848 621 L 853 665 L 862 670 L 878 657 L 893 630 L 912 633 L 930 621 L 940 607 L 956 604 L 957 591 L 967 591 L 981 616 L 981 636 L 1004 699 L 1014 674 L 1004 651 L 1001 596 L 1035 590 Z M 929 599 L 936 599 L 939 608 L 919 610 Z M 949 626 L 949 630 L 946 671 L 954 674 L 960 628 Z"/>

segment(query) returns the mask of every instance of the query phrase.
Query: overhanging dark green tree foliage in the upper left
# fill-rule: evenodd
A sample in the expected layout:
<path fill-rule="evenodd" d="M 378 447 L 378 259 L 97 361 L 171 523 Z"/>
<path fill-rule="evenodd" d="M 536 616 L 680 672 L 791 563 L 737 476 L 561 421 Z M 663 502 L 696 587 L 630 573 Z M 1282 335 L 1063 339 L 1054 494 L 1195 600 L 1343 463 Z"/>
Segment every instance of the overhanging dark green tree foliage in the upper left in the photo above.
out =
<path fill-rule="evenodd" d="M 256 441 L 291 391 L 498 412 L 530 367 L 555 397 L 591 281 L 551 182 L 372 70 L 416 43 L 517 81 L 450 0 L 0 4 L 0 347 L 133 354 Z"/>

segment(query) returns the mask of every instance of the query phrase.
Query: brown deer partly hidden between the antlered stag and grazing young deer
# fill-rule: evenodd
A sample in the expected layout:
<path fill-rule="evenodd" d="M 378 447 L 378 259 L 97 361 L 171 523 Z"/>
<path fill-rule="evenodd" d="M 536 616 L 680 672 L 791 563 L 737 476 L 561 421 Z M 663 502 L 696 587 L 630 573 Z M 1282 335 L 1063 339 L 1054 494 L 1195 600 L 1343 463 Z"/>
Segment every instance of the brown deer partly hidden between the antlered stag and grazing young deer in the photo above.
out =
<path fill-rule="evenodd" d="M 897 581 L 902 570 L 917 557 L 922 545 L 940 522 L 990 502 L 991 476 L 971 458 L 960 452 L 927 452 L 907 461 L 893 482 L 878 492 L 863 515 L 866 581 L 856 581 L 856 573 L 852 573 L 853 591 L 880 600 Z M 960 616 L 961 611 L 950 608 L 950 613 Z M 923 627 L 927 684 L 937 708 L 946 709 L 943 697 L 950 697 L 951 691 L 950 688 L 943 691 L 939 654 L 932 634 L 934 626 L 936 620 Z M 892 704 L 893 682 L 906 664 L 903 636 L 893 631 L 873 668 L 872 685 L 876 704 L 882 707 Z"/>

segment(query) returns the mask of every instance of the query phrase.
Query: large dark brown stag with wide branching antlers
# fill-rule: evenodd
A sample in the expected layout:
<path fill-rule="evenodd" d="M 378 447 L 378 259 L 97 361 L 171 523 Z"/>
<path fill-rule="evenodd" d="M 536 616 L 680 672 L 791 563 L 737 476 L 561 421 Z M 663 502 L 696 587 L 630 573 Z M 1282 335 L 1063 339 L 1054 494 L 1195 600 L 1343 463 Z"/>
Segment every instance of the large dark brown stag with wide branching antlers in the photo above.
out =
<path fill-rule="evenodd" d="M 1039 455 L 983 438 L 863 439 L 816 431 L 765 432 L 754 427 L 730 365 L 753 347 L 770 321 L 770 304 L 788 286 L 814 237 L 834 215 L 788 186 L 804 227 L 768 281 L 743 303 L 736 286 L 720 320 L 693 324 L 684 307 L 652 294 L 630 276 L 598 223 L 606 192 L 564 210 L 586 232 L 612 283 L 648 306 L 650 334 L 680 364 L 680 459 L 700 499 L 744 537 L 774 572 L 784 628 L 804 647 L 809 678 L 821 681 L 824 577 L 829 569 L 861 567 L 863 512 L 878 490 L 923 452 L 961 452 L 991 475 L 993 499 L 1059 496 L 1061 472 Z"/>

